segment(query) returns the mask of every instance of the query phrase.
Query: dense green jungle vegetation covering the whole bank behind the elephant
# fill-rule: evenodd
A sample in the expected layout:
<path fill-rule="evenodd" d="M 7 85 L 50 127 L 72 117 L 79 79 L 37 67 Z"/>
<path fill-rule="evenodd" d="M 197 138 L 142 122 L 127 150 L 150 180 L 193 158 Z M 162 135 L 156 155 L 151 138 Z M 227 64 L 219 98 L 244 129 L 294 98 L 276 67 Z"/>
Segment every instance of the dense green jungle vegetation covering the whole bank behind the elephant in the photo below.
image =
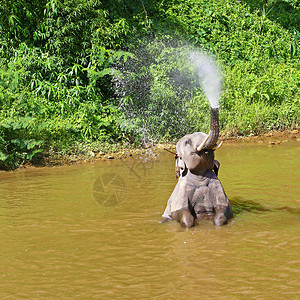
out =
<path fill-rule="evenodd" d="M 1 169 L 49 151 L 207 130 L 203 93 L 175 76 L 186 45 L 222 67 L 223 132 L 299 127 L 298 0 L 0 4 Z"/>

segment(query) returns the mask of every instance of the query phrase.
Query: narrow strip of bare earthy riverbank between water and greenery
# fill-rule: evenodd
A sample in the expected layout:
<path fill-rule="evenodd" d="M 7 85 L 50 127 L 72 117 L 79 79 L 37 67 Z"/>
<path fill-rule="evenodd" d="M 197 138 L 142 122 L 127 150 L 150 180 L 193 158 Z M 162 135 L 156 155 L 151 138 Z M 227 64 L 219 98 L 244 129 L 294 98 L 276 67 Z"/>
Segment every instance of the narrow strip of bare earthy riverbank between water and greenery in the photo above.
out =
<path fill-rule="evenodd" d="M 241 146 L 243 143 L 263 144 L 266 147 L 273 147 L 286 143 L 288 141 L 298 141 L 300 143 L 300 130 L 294 129 L 291 131 L 270 131 L 259 135 L 250 136 L 226 136 L 225 133 L 220 133 L 220 140 L 224 141 L 224 145 Z M 157 143 L 147 144 L 141 147 L 132 144 L 114 144 L 114 145 L 98 145 L 96 150 L 86 147 L 79 151 L 70 151 L 69 153 L 61 153 L 49 151 L 43 156 L 38 157 L 32 162 L 26 162 L 19 169 L 32 167 L 51 167 L 87 163 L 93 161 L 106 161 L 113 159 L 125 159 L 128 157 L 148 155 L 156 151 L 176 151 L 176 143 Z"/>

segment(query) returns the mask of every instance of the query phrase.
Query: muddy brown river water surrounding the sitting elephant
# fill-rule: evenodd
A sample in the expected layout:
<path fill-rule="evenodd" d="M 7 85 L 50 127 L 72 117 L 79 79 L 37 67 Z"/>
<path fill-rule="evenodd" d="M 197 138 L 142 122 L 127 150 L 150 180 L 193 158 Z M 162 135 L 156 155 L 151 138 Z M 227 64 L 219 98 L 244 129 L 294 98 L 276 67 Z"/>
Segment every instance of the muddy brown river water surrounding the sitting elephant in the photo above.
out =
<path fill-rule="evenodd" d="M 159 224 L 167 152 L 0 174 L 1 299 L 300 299 L 300 143 L 224 145 L 235 212 Z"/>

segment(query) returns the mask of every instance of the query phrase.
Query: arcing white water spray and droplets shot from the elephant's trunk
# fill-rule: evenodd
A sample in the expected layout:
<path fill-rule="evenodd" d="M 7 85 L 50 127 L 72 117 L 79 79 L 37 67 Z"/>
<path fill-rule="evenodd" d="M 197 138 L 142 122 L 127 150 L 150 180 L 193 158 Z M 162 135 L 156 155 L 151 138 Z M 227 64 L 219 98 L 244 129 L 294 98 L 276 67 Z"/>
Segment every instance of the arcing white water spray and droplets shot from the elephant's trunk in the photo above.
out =
<path fill-rule="evenodd" d="M 166 133 L 179 138 L 196 127 L 189 102 L 200 90 L 218 110 L 222 75 L 208 54 L 155 41 L 137 49 L 135 56 L 117 66 L 122 76 L 114 83 L 123 126 L 142 135 L 144 144 Z"/>

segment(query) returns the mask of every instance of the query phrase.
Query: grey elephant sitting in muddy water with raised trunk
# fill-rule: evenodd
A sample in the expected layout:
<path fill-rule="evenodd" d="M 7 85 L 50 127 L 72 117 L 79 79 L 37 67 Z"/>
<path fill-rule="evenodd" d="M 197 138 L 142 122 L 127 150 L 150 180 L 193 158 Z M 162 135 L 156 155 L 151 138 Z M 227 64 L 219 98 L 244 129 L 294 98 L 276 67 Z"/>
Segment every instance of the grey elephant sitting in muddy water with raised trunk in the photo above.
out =
<path fill-rule="evenodd" d="M 214 159 L 218 149 L 219 110 L 211 108 L 209 134 L 195 132 L 185 135 L 176 144 L 176 177 L 178 182 L 162 215 L 177 220 L 182 227 L 192 227 L 195 220 L 213 219 L 225 225 L 232 218 L 230 202 L 217 177 L 220 163 Z"/>

